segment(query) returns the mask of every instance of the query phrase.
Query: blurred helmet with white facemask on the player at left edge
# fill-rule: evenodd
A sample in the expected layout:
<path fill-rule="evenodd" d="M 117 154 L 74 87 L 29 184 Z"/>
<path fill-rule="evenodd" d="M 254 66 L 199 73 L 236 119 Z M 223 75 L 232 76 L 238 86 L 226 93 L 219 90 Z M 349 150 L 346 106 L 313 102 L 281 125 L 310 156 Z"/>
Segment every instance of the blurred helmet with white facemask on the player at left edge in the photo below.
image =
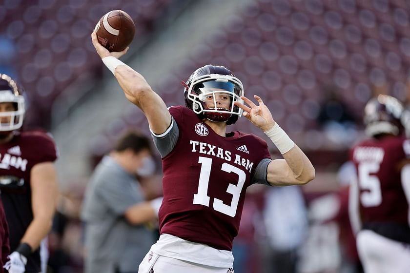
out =
<path fill-rule="evenodd" d="M 6 74 L 0 74 L 0 103 L 11 102 L 14 106 L 14 111 L 0 112 L 1 117 L 10 117 L 8 122 L 1 120 L 0 134 L 4 135 L 11 131 L 21 128 L 25 113 L 24 97 L 22 88 L 17 82 Z"/>

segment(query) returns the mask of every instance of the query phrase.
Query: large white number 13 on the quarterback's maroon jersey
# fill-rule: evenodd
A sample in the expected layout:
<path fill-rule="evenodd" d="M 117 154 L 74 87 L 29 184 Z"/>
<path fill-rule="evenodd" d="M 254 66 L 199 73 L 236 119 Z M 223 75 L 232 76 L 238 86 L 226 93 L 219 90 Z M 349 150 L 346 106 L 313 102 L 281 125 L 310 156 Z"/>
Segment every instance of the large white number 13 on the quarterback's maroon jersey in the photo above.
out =
<path fill-rule="evenodd" d="M 198 163 L 201 163 L 201 173 L 199 175 L 198 193 L 194 194 L 194 204 L 209 207 L 210 197 L 208 196 L 209 176 L 211 175 L 212 158 L 200 156 Z M 246 174 L 241 169 L 228 163 L 222 164 L 221 170 L 226 173 L 234 173 L 238 176 L 238 184 L 229 184 L 226 192 L 232 195 L 231 205 L 228 206 L 218 198 L 214 198 L 213 209 L 217 212 L 234 217 L 238 207 L 239 196 L 241 196 L 242 187 L 244 186 Z"/>

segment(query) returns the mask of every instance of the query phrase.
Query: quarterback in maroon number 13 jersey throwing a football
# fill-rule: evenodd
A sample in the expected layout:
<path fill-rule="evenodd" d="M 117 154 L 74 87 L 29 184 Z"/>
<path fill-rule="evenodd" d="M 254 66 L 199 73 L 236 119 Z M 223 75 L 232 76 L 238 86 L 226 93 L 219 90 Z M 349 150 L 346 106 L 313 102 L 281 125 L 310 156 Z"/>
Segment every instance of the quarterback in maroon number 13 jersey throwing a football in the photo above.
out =
<path fill-rule="evenodd" d="M 225 67 L 197 69 L 183 83 L 186 107 L 168 110 L 145 79 L 117 59 L 126 50 L 108 52 L 95 33 L 92 40 L 126 98 L 143 111 L 163 158 L 161 236 L 139 273 L 233 272 L 232 240 L 246 188 L 306 184 L 315 172 L 308 157 L 275 123 L 261 98 L 255 96 L 255 105 L 243 96 L 241 81 Z M 265 132 L 285 159 L 271 160 L 266 142 L 255 135 L 226 133 L 241 115 Z"/>

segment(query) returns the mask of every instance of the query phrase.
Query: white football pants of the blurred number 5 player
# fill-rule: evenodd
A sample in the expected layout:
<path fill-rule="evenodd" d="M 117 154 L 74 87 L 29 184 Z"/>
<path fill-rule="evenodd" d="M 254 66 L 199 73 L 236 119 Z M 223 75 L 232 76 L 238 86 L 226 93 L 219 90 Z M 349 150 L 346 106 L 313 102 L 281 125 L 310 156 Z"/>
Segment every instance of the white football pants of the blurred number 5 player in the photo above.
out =
<path fill-rule="evenodd" d="M 410 245 L 370 230 L 360 231 L 356 243 L 365 273 L 410 272 Z"/>

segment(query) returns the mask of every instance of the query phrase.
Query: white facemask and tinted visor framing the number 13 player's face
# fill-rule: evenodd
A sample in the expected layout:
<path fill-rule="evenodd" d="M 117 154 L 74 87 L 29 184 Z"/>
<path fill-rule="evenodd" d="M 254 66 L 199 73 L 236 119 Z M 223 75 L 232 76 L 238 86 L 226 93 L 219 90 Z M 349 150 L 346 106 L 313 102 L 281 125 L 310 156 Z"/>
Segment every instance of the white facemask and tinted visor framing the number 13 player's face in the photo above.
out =
<path fill-rule="evenodd" d="M 242 115 L 242 109 L 233 103 L 243 103 L 241 96 L 244 96 L 241 81 L 230 75 L 210 74 L 195 78 L 186 91 L 186 99 L 191 101 L 196 114 L 228 125 Z"/>

